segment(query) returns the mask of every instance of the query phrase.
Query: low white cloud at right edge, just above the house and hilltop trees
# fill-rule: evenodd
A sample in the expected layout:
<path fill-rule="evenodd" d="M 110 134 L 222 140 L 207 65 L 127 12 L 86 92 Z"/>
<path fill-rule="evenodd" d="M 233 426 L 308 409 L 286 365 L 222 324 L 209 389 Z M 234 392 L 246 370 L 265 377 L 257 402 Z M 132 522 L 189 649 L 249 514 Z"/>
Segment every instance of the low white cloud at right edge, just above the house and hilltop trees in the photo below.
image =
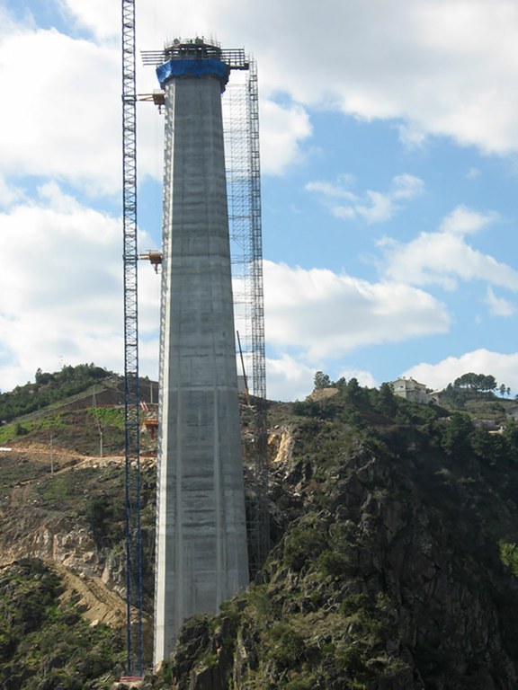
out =
<path fill-rule="evenodd" d="M 498 384 L 518 390 L 518 353 L 504 354 L 488 349 L 476 349 L 460 357 L 448 357 L 437 364 L 421 363 L 406 369 L 403 376 L 413 376 L 417 381 L 434 389 L 440 389 L 462 376 L 474 372 L 495 376 Z"/>

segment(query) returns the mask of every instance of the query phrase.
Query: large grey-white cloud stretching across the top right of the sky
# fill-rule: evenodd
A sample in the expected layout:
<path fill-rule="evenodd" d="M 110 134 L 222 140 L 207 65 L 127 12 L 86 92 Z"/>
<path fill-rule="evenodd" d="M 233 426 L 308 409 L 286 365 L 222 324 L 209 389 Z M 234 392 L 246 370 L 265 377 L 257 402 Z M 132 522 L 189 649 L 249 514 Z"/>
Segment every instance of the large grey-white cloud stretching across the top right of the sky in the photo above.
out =
<path fill-rule="evenodd" d="M 98 39 L 118 33 L 119 4 L 61 2 Z M 411 145 L 444 135 L 492 153 L 518 149 L 514 0 L 328 0 L 304 12 L 295 0 L 178 0 L 151 11 L 138 3 L 137 20 L 138 49 L 216 34 L 226 47 L 254 51 L 263 97 L 396 119 Z"/>

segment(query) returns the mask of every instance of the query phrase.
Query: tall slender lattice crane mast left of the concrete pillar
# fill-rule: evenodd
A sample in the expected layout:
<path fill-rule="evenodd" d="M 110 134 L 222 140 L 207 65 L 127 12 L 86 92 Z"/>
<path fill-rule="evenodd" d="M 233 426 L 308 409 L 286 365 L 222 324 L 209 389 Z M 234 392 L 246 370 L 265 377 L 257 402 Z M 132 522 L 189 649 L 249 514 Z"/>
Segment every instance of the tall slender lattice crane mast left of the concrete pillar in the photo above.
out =
<path fill-rule="evenodd" d="M 135 0 L 122 0 L 124 420 L 128 675 L 142 673 L 142 541 L 138 395 L 137 94 Z"/>

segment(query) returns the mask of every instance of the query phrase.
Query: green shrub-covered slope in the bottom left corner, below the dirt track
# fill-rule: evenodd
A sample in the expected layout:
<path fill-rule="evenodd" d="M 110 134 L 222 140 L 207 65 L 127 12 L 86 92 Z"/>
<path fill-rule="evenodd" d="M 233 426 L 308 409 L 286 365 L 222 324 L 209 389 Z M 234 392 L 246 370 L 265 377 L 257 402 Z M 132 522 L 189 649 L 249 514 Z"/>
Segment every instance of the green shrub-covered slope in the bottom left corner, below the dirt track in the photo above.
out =
<path fill-rule="evenodd" d="M 101 690 L 123 668 L 119 633 L 89 625 L 58 574 L 36 559 L 0 570 L 0 687 Z M 101 680 L 102 678 L 102 680 Z"/>

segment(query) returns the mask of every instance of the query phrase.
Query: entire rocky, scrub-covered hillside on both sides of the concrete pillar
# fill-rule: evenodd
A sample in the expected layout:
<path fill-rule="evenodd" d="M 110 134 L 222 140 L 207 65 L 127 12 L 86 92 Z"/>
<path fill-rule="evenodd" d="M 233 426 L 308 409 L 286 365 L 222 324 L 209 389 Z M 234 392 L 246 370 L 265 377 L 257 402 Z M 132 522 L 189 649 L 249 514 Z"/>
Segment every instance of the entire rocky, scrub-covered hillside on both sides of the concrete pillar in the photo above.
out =
<path fill-rule="evenodd" d="M 2 428 L 2 688 L 102 688 L 124 668 L 118 383 Z M 100 407 L 102 387 L 114 406 Z M 514 690 L 518 428 L 478 427 L 511 404 L 419 405 L 354 379 L 269 403 L 271 556 L 219 616 L 186 622 L 143 687 Z M 148 654 L 153 458 L 142 472 Z"/>

